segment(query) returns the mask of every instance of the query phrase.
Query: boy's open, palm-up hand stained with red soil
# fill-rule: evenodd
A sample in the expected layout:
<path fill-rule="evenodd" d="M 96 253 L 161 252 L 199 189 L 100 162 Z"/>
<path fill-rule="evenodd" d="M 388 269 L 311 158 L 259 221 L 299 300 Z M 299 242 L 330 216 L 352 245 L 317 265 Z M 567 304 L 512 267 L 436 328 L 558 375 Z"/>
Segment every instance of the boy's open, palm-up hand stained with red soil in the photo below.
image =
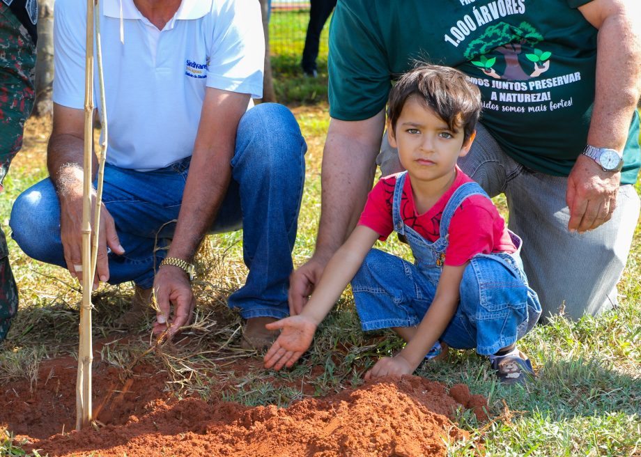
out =
<path fill-rule="evenodd" d="M 307 316 L 291 316 L 265 325 L 268 330 L 281 330 L 270 350 L 265 354 L 265 368 L 276 371 L 291 367 L 314 339 L 317 324 Z"/>

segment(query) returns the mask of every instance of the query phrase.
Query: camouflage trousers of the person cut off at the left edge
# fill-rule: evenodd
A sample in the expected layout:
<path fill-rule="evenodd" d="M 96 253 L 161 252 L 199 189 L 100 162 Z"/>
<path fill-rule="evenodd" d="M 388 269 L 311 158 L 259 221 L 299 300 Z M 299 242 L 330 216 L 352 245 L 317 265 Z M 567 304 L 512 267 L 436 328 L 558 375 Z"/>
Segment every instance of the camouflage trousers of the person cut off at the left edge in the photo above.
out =
<path fill-rule="evenodd" d="M 0 1 L 0 191 L 11 160 L 22 147 L 24 123 L 36 98 L 36 47 L 29 32 Z M 0 341 L 15 316 L 18 293 L 0 229 Z"/>

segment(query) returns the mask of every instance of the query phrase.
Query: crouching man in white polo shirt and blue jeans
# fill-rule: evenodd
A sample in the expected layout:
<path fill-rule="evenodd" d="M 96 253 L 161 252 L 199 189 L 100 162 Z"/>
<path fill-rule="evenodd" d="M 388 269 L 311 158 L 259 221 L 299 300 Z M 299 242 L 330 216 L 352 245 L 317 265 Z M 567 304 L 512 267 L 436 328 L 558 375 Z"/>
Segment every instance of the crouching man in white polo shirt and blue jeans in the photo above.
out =
<path fill-rule="evenodd" d="M 247 319 L 245 346 L 264 346 L 264 324 L 288 315 L 307 148 L 285 107 L 247 109 L 262 94 L 259 4 L 101 6 L 109 148 L 96 281 L 134 281 L 138 293 L 155 284 L 155 330 L 171 323 L 173 334 L 194 308 L 190 274 L 203 236 L 242 226 L 249 275 L 229 306 Z M 56 1 L 50 178 L 27 189 L 11 217 L 26 254 L 79 279 L 85 17 L 82 2 Z M 97 95 L 97 75 L 95 87 Z"/>

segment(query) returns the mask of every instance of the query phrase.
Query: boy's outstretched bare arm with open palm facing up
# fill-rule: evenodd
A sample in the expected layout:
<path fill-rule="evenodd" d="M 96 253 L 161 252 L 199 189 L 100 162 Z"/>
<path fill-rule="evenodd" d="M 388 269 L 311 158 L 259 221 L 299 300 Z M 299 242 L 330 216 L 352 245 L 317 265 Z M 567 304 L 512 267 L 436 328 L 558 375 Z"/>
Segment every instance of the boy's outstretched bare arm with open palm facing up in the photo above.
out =
<path fill-rule="evenodd" d="M 265 325 L 269 330 L 281 330 L 265 354 L 265 368 L 290 367 L 309 348 L 316 327 L 334 307 L 378 236 L 369 227 L 357 226 L 327 263 L 323 277 L 302 313 Z"/>

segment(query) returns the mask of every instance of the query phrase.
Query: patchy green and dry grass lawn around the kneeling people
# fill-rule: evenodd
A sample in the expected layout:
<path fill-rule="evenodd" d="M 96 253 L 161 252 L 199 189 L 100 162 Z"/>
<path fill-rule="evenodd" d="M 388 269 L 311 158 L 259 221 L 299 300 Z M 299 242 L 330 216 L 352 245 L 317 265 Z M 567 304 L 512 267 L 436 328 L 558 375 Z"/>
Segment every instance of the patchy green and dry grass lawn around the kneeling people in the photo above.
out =
<path fill-rule="evenodd" d="M 314 251 L 321 205 L 321 156 L 329 123 L 327 60 L 326 48 L 321 48 L 320 77 L 303 78 L 298 70 L 304 36 L 304 29 L 300 29 L 300 24 L 304 24 L 302 13 L 272 16 L 272 38 L 286 35 L 282 24 L 288 21 L 299 26 L 295 33 L 287 35 L 289 38 L 279 41 L 286 45 L 279 49 L 272 63 L 279 101 L 292 107 L 309 146 L 298 240 L 293 252 L 295 265 L 300 265 Z M 276 49 L 273 47 L 272 52 Z M 6 233 L 10 233 L 11 203 L 29 185 L 46 176 L 49 130 L 47 118 L 29 121 L 24 148 L 13 162 L 0 199 L 1 224 Z M 501 199 L 497 199 L 497 204 L 504 208 Z M 397 242 L 381 247 L 410 255 Z M 0 346 L 0 383 L 6 385 L 33 380 L 45 360 L 76 353 L 80 300 L 77 285 L 64 270 L 31 261 L 13 240 L 9 240 L 9 249 L 20 288 L 20 311 L 7 341 Z M 287 406 L 301 398 L 361 385 L 363 373 L 377 357 L 402 347 L 402 341 L 390 333 L 363 334 L 353 297 L 346 291 L 301 362 L 291 371 L 265 372 L 256 362 L 258 355 L 238 349 L 241 323 L 225 306 L 226 297 L 242 285 L 246 274 L 242 264 L 242 233 L 206 238 L 196 262 L 194 292 L 199 302 L 196 320 L 185 332 L 185 341 L 173 348 L 171 355 L 146 351 L 150 325 L 141 323 L 139 328 L 132 329 L 134 336 L 114 325 L 130 300 L 132 284 L 102 286 L 94 294 L 94 338 L 114 341 L 103 346 L 101 363 L 122 369 L 130 369 L 141 359 L 157 364 L 171 374 L 168 388 L 179 396 Z M 521 345 L 538 373 L 536 382 L 527 387 L 502 387 L 486 359 L 472 351 L 454 351 L 446 362 L 420 366 L 416 373 L 419 376 L 447 386 L 464 382 L 472 393 L 488 397 L 493 420 L 481 423 L 474 415 L 461 412 L 458 425 L 470 432 L 470 439 L 451 444 L 449 455 L 641 455 L 640 277 L 638 227 L 619 284 L 619 308 L 578 322 L 558 316 L 548 325 L 537 326 Z M 247 360 L 252 366 L 238 371 L 238 367 L 234 369 L 229 364 L 231 359 Z M 6 436 L 11 432 L 7 431 Z M 12 443 L 0 432 L 0 456 L 21 455 L 20 449 L 20 443 Z"/>

